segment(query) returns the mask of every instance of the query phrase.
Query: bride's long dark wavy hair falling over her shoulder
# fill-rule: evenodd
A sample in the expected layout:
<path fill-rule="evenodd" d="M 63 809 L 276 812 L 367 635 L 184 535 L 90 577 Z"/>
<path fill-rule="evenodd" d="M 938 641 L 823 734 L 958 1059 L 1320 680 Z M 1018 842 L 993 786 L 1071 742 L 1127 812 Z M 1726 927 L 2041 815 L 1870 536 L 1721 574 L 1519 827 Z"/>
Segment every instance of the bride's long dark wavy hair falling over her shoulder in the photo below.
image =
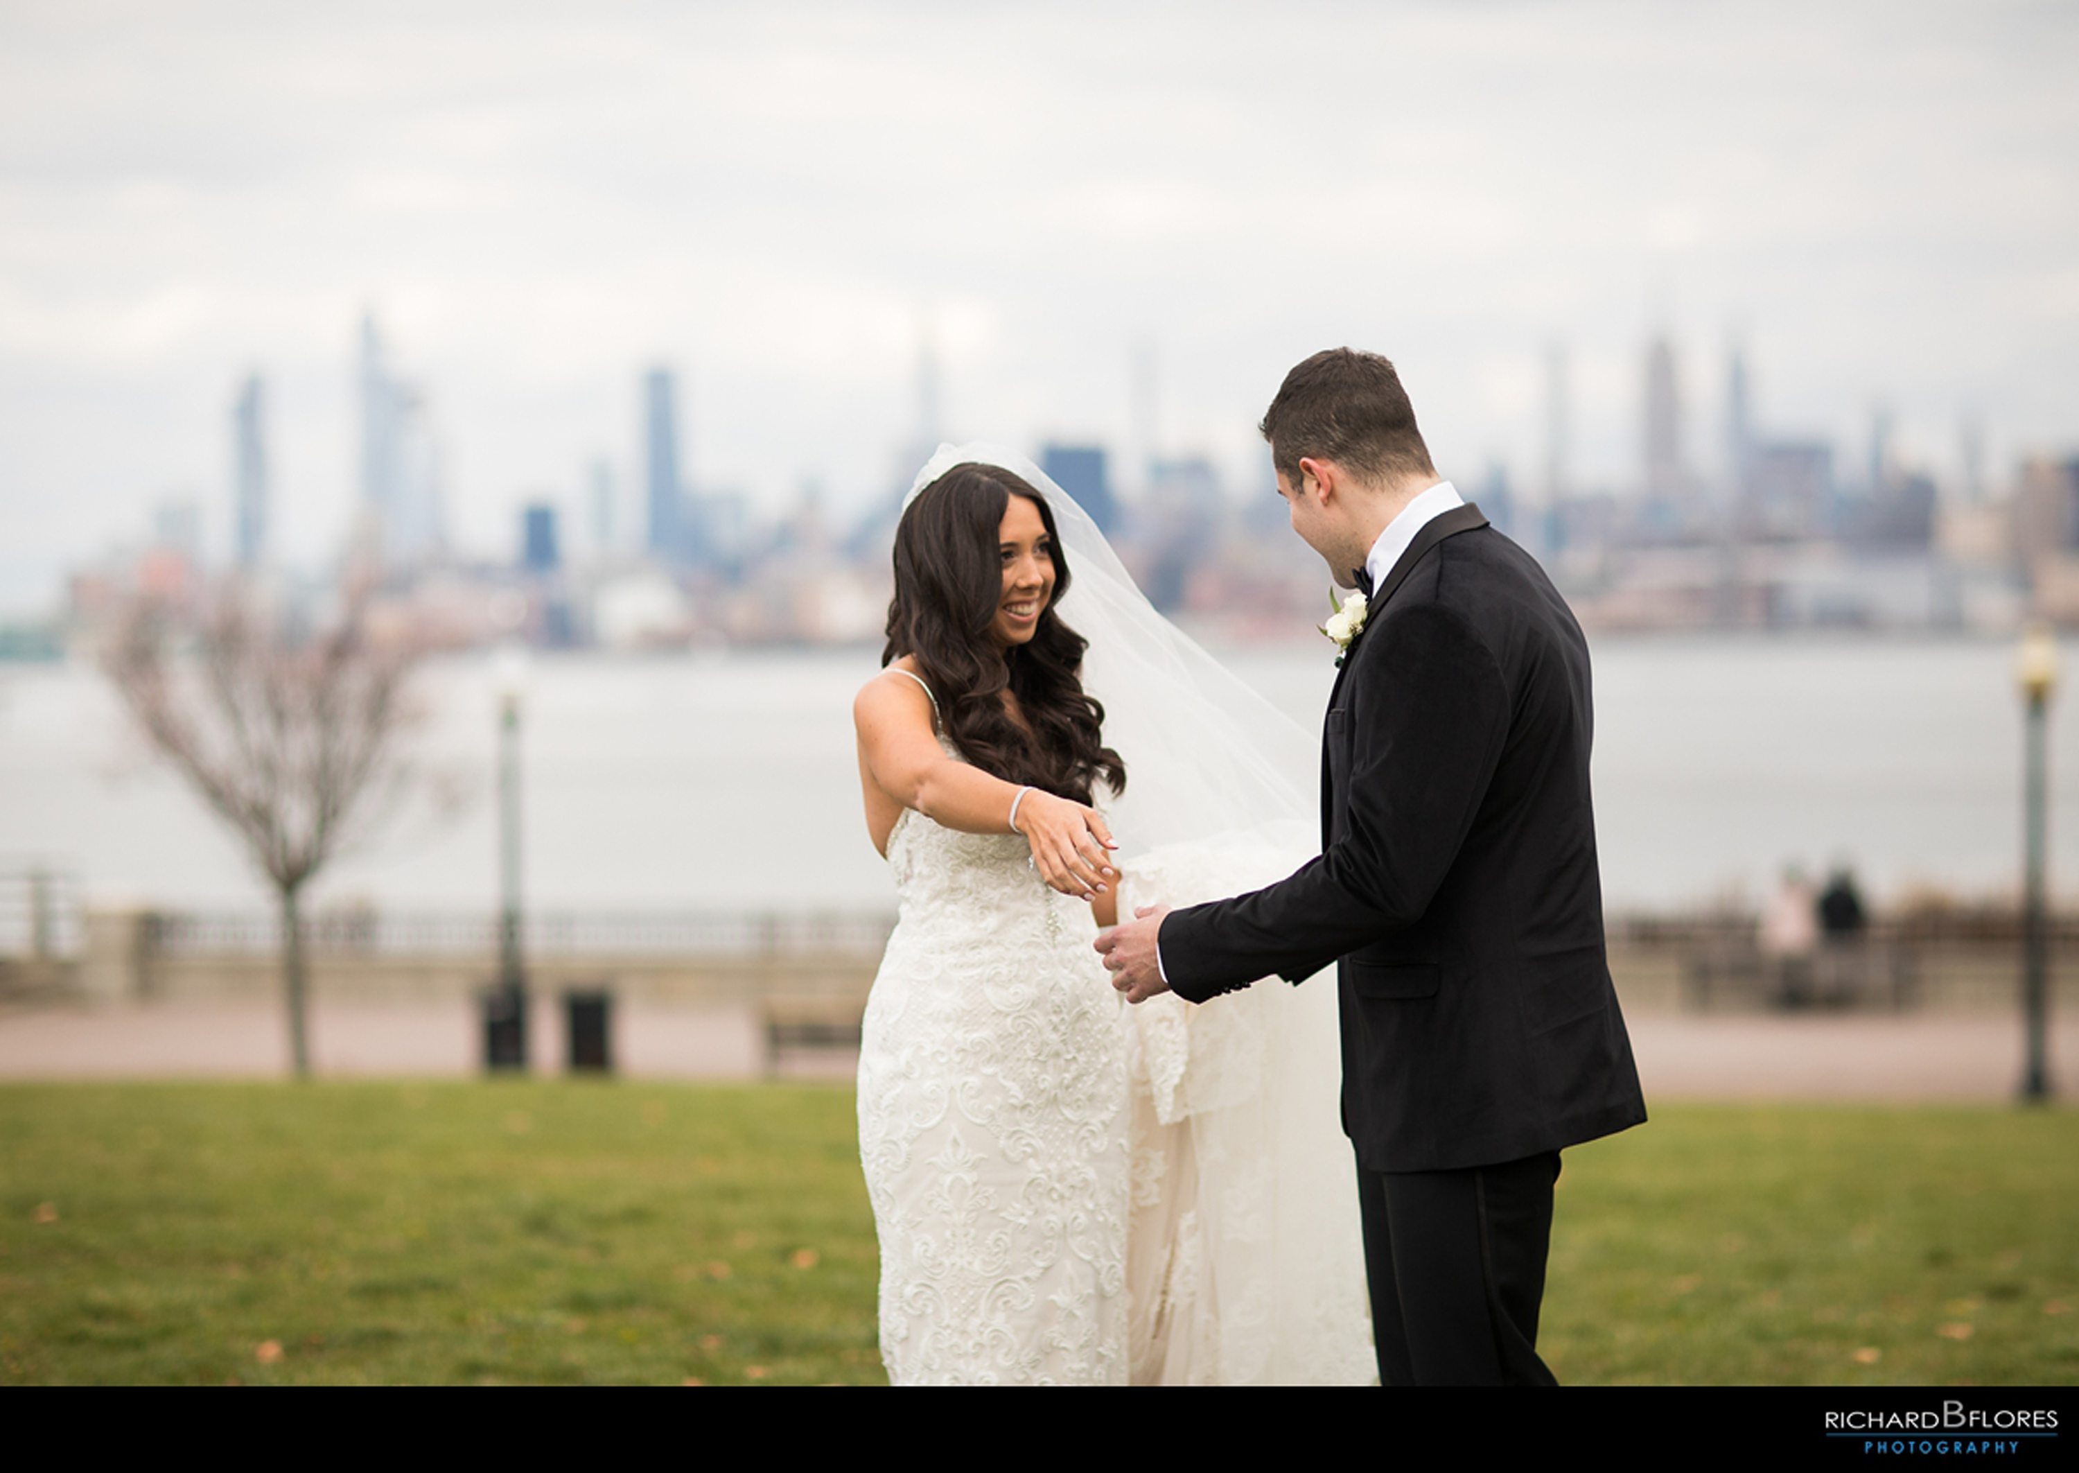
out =
<path fill-rule="evenodd" d="M 1040 508 L 1054 591 L 1033 637 L 1006 651 L 990 639 L 990 624 L 1004 601 L 998 545 L 1015 495 Z M 1083 693 L 1089 641 L 1054 614 L 1067 591 L 1069 560 L 1046 497 L 1002 466 L 958 464 L 919 491 L 896 526 L 896 597 L 881 664 L 915 655 L 946 734 L 971 764 L 1004 782 L 1089 803 L 1100 776 L 1114 795 L 1125 791 L 1127 764 L 1104 745 L 1104 707 Z M 1006 687 L 1031 730 L 1004 709 Z"/>

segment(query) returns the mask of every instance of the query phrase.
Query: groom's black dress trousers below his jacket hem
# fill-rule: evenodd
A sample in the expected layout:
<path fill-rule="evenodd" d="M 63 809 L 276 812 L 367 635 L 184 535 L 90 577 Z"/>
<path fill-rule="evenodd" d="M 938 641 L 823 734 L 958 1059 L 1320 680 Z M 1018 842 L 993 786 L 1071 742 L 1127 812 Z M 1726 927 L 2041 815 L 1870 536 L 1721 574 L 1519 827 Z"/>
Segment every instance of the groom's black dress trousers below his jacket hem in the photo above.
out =
<path fill-rule="evenodd" d="M 1538 1359 L 1559 1153 L 1358 1169 L 1380 1386 L 1557 1386 Z"/>

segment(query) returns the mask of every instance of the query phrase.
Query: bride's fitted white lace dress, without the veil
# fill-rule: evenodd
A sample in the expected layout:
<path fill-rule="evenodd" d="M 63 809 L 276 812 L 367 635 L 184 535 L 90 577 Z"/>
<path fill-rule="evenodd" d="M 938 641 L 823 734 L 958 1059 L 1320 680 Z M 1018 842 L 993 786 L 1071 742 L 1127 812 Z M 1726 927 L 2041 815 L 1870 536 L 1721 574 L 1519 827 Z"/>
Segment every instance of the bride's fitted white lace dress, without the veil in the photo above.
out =
<path fill-rule="evenodd" d="M 859 1155 L 896 1386 L 1127 1381 L 1123 1003 L 1029 853 L 913 809 L 888 836 Z"/>

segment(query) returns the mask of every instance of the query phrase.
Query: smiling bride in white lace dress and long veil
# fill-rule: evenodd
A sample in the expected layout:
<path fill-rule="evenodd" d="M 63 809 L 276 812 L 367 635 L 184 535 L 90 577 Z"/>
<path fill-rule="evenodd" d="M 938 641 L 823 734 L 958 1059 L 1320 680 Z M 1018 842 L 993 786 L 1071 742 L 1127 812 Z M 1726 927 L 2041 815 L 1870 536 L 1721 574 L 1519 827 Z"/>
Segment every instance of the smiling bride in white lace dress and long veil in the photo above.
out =
<path fill-rule="evenodd" d="M 890 1379 L 1370 1379 L 1333 988 L 1125 1009 L 1091 949 L 1306 859 L 1310 739 L 1023 456 L 940 447 L 894 568 L 854 701 L 898 897 L 859 1059 Z"/>

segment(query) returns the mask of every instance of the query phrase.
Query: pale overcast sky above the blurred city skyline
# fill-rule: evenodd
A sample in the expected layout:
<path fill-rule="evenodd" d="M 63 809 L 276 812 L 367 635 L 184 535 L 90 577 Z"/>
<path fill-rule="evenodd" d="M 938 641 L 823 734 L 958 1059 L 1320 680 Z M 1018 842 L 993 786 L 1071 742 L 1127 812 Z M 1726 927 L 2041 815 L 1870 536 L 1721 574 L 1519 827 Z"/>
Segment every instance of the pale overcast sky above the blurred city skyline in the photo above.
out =
<path fill-rule="evenodd" d="M 1638 460 L 1680 345 L 1717 456 L 1759 414 L 1859 464 L 2079 443 L 2071 4 L 19 4 L 0 0 L 0 610 L 168 497 L 229 539 L 229 408 L 272 391 L 279 522 L 353 497 L 364 308 L 428 393 L 466 551 L 634 508 L 638 374 L 692 476 L 838 508 L 896 474 L 919 325 L 944 429 L 1254 464 L 1287 366 L 1393 356 L 1445 474 Z"/>

